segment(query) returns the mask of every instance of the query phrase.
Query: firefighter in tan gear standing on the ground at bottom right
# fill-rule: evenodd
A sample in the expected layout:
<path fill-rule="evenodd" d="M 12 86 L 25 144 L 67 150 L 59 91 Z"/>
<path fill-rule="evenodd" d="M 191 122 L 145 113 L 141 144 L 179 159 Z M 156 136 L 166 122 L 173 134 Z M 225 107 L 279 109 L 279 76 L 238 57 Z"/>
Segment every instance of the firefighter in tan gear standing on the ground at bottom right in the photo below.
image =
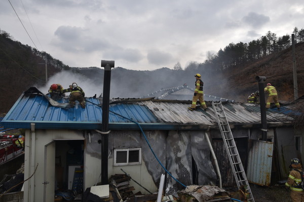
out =
<path fill-rule="evenodd" d="M 302 165 L 299 159 L 291 159 L 290 169 L 285 187 L 290 189 L 290 197 L 293 202 L 304 202 L 304 191 L 300 185 L 302 182 Z"/>

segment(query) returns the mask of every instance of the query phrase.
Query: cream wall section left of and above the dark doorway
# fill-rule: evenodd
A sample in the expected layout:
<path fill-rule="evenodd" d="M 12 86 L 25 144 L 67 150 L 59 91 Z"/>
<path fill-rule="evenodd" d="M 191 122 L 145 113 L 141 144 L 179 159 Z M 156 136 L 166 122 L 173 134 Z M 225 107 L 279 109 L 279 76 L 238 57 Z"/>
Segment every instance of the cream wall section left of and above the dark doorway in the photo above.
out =
<path fill-rule="evenodd" d="M 35 137 L 35 139 L 32 139 Z M 84 134 L 79 130 L 43 130 L 37 129 L 34 132 L 29 129 L 25 133 L 25 157 L 24 157 L 24 179 L 28 179 L 37 170 L 32 179 L 24 183 L 24 202 L 44 201 L 44 163 L 45 163 L 45 145 L 54 140 L 84 140 Z M 31 153 L 32 149 L 34 153 Z M 32 159 L 34 158 L 34 159 Z M 54 157 L 55 158 L 55 157 Z M 34 166 L 33 166 L 34 165 Z M 55 165 L 54 171 L 55 173 Z M 34 183 L 34 185 L 32 185 Z M 55 187 L 55 179 L 47 186 Z M 55 188 L 52 190 L 54 191 Z M 54 195 L 54 193 L 47 193 Z M 47 198 L 47 201 L 54 201 L 54 198 Z"/>

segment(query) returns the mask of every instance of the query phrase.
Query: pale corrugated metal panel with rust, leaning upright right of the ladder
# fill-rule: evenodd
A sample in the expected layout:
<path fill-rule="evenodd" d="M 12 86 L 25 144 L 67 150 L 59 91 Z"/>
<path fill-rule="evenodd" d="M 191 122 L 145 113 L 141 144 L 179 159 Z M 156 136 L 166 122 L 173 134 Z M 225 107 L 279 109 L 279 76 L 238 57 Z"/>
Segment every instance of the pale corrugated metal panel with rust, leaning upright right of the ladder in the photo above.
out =
<path fill-rule="evenodd" d="M 248 154 L 247 179 L 258 185 L 270 185 L 274 144 L 251 140 Z"/>

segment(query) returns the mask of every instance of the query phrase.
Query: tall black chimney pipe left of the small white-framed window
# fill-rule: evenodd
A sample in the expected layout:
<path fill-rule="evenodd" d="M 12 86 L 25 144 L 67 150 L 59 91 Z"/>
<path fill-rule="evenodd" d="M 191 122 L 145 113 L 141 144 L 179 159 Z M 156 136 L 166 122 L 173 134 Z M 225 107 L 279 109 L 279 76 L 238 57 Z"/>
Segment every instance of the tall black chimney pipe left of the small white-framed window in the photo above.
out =
<path fill-rule="evenodd" d="M 101 67 L 104 67 L 103 96 L 102 96 L 102 122 L 101 122 L 101 184 L 108 184 L 108 144 L 109 144 L 109 102 L 111 68 L 114 68 L 113 60 L 101 60 Z"/>

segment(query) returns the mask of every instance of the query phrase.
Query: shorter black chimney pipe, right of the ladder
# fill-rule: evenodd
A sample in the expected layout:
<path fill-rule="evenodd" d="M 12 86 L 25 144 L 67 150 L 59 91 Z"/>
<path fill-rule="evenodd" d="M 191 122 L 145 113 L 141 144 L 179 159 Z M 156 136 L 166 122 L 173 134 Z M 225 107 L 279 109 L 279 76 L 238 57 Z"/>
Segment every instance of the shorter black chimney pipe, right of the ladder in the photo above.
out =
<path fill-rule="evenodd" d="M 265 103 L 265 93 L 264 93 L 264 81 L 266 80 L 266 77 L 256 76 L 255 80 L 258 81 L 262 140 L 267 141 L 267 118 L 266 118 L 266 103 Z"/>

